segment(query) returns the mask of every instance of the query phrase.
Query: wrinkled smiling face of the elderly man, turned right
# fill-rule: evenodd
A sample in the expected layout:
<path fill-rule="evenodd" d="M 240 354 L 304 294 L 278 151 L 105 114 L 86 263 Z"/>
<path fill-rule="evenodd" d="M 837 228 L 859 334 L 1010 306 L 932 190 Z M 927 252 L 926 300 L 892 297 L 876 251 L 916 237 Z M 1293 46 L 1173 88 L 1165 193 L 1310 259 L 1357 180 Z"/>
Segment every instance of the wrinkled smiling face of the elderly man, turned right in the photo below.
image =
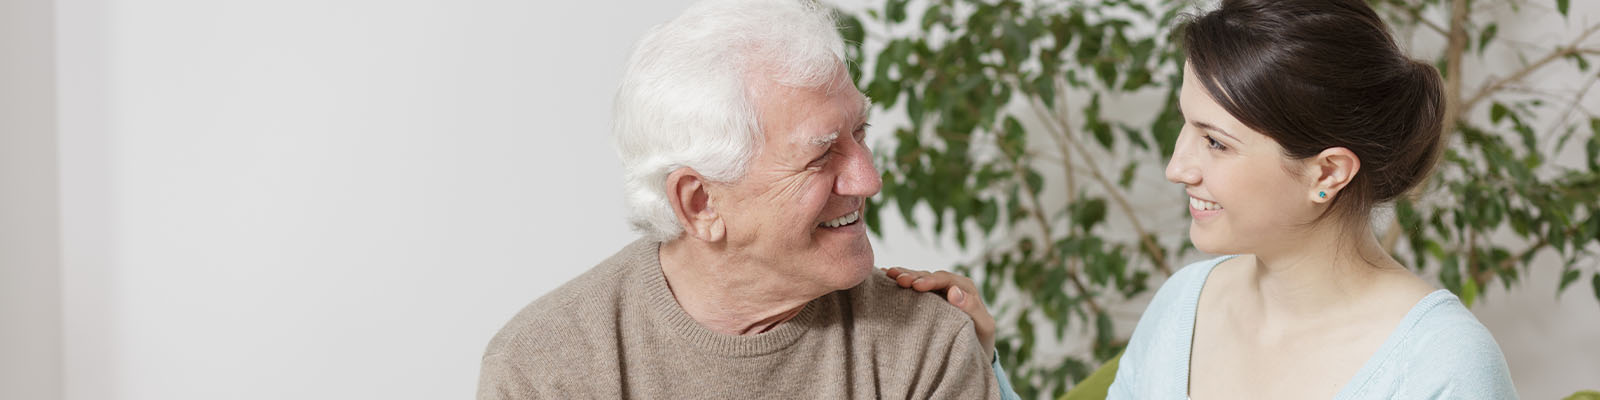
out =
<path fill-rule="evenodd" d="M 882 181 L 866 146 L 867 101 L 838 70 L 822 88 L 757 83 L 762 150 L 744 179 L 707 187 L 728 253 L 805 291 L 846 290 L 872 270 L 861 213 Z"/>

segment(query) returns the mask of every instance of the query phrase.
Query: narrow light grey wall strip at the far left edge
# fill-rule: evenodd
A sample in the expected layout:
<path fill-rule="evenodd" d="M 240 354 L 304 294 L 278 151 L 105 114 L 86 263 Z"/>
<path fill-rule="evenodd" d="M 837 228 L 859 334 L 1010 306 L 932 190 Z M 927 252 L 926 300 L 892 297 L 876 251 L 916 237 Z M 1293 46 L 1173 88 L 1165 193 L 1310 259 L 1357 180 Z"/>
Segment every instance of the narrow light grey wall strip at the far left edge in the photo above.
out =
<path fill-rule="evenodd" d="M 51 13 L 0 2 L 0 398 L 61 397 Z"/>

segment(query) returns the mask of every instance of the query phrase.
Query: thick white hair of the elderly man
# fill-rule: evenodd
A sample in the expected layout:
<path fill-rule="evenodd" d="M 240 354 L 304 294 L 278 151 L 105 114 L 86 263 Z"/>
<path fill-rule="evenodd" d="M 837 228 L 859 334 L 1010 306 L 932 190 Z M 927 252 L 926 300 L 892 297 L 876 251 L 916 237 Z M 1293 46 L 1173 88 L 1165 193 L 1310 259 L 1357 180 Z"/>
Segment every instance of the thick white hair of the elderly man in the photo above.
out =
<path fill-rule="evenodd" d="M 645 34 L 613 106 L 629 224 L 677 238 L 667 174 L 688 166 L 710 181 L 744 178 L 763 138 L 754 101 L 762 78 L 819 88 L 843 59 L 832 11 L 814 0 L 706 0 Z"/>

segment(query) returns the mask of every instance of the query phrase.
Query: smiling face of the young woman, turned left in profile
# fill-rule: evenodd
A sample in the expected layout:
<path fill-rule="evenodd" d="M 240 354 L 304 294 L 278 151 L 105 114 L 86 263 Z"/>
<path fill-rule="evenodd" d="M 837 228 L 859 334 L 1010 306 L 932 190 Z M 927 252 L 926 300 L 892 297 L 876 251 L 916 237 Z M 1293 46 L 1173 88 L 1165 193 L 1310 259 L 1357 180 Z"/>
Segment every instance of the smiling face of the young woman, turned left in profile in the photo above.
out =
<path fill-rule="evenodd" d="M 1184 128 L 1166 179 L 1189 194 L 1189 240 L 1210 254 L 1261 253 L 1293 243 L 1318 214 L 1306 162 L 1229 115 L 1184 64 Z M 1331 195 L 1331 194 L 1330 194 Z"/>

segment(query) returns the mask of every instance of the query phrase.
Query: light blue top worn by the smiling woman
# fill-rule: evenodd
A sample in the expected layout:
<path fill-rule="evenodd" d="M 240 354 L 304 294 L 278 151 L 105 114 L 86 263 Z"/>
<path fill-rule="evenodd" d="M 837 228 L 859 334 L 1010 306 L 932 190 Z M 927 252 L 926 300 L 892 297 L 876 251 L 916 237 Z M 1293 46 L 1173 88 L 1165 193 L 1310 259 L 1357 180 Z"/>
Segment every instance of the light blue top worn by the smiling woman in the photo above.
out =
<path fill-rule="evenodd" d="M 1133 330 L 1109 398 L 1187 398 L 1200 288 L 1227 256 L 1173 274 Z M 1517 398 L 1494 336 L 1446 290 L 1406 312 L 1344 389 L 1344 398 Z"/>

